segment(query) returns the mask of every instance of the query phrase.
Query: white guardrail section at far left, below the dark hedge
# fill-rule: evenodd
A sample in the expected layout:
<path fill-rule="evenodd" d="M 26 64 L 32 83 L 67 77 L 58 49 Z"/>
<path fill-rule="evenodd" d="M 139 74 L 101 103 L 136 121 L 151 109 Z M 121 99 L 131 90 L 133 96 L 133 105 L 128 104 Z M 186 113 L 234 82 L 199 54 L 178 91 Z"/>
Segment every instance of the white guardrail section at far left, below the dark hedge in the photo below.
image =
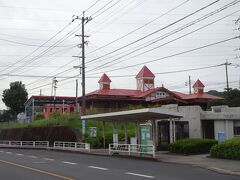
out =
<path fill-rule="evenodd" d="M 0 141 L 0 147 L 48 148 L 48 141 Z"/>

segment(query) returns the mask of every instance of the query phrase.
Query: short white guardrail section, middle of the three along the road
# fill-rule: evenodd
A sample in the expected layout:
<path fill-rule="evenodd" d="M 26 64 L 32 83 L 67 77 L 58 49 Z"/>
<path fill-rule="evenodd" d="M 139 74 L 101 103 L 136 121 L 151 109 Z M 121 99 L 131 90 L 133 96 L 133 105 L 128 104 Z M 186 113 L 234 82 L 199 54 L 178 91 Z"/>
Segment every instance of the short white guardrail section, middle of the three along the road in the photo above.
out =
<path fill-rule="evenodd" d="M 81 143 L 81 142 L 55 141 L 53 148 L 54 149 L 61 149 L 61 150 L 88 151 L 88 152 L 90 152 L 90 144 Z"/>

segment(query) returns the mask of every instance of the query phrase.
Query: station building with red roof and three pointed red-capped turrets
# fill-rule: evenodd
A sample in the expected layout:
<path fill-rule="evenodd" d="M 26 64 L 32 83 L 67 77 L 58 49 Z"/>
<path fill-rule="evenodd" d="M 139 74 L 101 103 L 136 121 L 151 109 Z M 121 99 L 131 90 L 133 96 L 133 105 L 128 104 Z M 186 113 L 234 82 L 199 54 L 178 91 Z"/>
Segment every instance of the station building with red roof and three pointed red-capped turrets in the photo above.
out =
<path fill-rule="evenodd" d="M 204 93 L 204 85 L 198 79 L 193 85 L 194 94 L 170 91 L 165 87 L 154 87 L 155 75 L 144 66 L 136 76 L 136 89 L 111 89 L 111 80 L 106 75 L 98 81 L 99 89 L 86 94 L 86 110 L 111 112 L 126 110 L 129 106 L 152 106 L 176 103 L 179 105 L 200 105 L 206 108 L 207 102 L 222 99 Z M 81 97 L 79 98 L 81 103 Z"/>

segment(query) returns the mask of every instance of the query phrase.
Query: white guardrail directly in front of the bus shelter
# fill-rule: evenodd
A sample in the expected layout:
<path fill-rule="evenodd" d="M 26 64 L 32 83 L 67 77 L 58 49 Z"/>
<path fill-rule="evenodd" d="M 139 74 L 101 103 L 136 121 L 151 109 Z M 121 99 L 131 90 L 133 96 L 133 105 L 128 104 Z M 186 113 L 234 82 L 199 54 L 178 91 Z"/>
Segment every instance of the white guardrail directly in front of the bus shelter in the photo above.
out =
<path fill-rule="evenodd" d="M 151 155 L 155 158 L 154 145 L 142 145 L 142 144 L 109 144 L 109 155 L 114 152 L 127 153 L 131 155 Z"/>

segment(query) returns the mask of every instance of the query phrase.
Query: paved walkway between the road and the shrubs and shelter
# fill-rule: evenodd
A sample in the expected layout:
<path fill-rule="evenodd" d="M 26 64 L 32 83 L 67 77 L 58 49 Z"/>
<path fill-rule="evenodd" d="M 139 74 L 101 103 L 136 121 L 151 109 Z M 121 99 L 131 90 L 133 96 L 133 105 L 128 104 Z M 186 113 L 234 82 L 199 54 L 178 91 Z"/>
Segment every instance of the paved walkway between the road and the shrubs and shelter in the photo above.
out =
<path fill-rule="evenodd" d="M 92 149 L 90 154 L 106 156 L 108 155 L 108 149 Z M 167 151 L 156 152 L 156 159 L 160 162 L 187 164 L 206 168 L 217 173 L 240 176 L 239 160 L 215 159 L 210 158 L 208 154 L 191 156 L 175 155 Z"/>

